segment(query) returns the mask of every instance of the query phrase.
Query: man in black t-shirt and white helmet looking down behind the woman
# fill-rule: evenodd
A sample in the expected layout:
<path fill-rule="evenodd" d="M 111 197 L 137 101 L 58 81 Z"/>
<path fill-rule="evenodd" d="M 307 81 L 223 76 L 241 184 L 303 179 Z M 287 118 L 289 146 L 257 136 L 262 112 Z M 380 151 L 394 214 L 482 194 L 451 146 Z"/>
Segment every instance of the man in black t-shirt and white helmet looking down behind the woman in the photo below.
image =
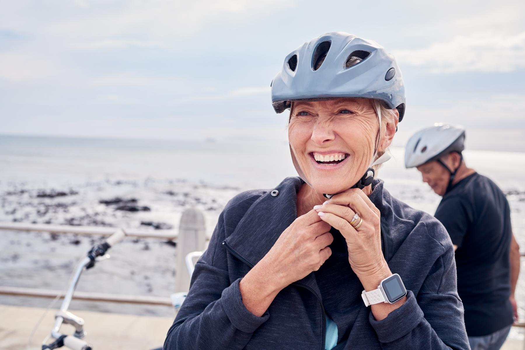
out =
<path fill-rule="evenodd" d="M 435 217 L 455 250 L 458 293 L 472 350 L 501 347 L 518 319 L 514 290 L 520 253 L 512 235 L 505 194 L 486 176 L 467 167 L 465 129 L 435 124 L 415 133 L 405 149 L 405 167 L 416 167 L 443 197 Z"/>

